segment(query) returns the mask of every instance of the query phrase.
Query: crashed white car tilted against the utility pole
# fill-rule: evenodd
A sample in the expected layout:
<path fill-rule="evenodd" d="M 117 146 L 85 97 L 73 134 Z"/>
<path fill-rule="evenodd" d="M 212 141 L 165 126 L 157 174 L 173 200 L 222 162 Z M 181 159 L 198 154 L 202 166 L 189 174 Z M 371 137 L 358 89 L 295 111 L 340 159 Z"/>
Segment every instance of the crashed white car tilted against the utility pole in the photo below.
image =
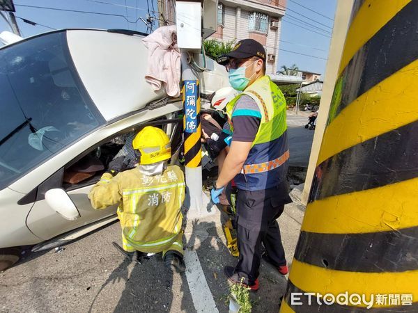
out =
<path fill-rule="evenodd" d="M 144 80 L 141 38 L 74 29 L 0 48 L 0 270 L 22 246 L 54 248 L 116 219 L 87 194 L 125 135 L 160 126 L 178 152 L 182 102 Z M 228 85 L 223 67 L 206 66 L 202 96 Z"/>

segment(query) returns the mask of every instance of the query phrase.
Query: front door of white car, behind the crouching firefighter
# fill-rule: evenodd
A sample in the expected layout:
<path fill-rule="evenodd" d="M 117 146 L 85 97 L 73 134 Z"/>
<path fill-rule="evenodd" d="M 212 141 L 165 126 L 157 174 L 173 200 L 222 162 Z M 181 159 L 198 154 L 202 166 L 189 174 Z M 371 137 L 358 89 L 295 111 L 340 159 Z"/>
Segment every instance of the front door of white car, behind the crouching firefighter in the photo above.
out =
<path fill-rule="evenodd" d="M 178 150 L 181 141 L 180 119 L 157 120 L 148 122 L 146 125 L 164 127 L 172 142 L 173 151 Z M 26 224 L 36 236 L 42 239 L 51 239 L 54 236 L 75 230 L 78 227 L 95 223 L 99 220 L 116 214 L 117 205 L 107 207 L 106 209 L 95 210 L 91 207 L 88 193 L 93 185 L 99 181 L 101 175 L 107 169 L 107 165 L 116 154 L 123 150 L 127 138 L 132 138 L 137 131 L 146 125 L 136 125 L 125 129 L 118 134 L 107 138 L 94 147 L 89 148 L 83 154 L 72 159 L 68 164 L 49 177 L 45 182 L 38 186 L 36 202 L 33 204 L 31 212 L 26 219 Z M 85 160 L 96 160 L 86 163 Z M 100 162 L 97 162 L 99 160 Z M 80 163 L 82 165 L 80 166 Z M 102 163 L 102 168 L 100 168 Z M 77 172 L 80 168 L 88 169 L 90 172 Z M 76 170 L 75 170 L 76 169 Z M 70 172 L 70 175 L 69 175 Z M 93 174 L 92 174 L 93 172 Z M 79 175 L 81 173 L 81 175 Z M 86 175 L 88 173 L 88 175 Z M 81 176 L 81 177 L 80 177 Z M 67 220 L 56 213 L 45 201 L 45 193 L 53 188 L 63 188 L 68 194 L 75 207 L 79 211 L 79 218 L 76 220 Z"/>

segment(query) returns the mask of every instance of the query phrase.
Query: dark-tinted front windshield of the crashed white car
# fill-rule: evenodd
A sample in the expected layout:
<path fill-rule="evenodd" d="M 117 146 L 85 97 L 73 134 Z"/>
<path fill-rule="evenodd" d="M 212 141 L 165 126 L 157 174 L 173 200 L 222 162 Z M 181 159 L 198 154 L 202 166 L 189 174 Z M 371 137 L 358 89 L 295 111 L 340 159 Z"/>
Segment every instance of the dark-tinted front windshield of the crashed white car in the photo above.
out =
<path fill-rule="evenodd" d="M 0 116 L 0 189 L 104 122 L 65 32 L 0 49 Z"/>

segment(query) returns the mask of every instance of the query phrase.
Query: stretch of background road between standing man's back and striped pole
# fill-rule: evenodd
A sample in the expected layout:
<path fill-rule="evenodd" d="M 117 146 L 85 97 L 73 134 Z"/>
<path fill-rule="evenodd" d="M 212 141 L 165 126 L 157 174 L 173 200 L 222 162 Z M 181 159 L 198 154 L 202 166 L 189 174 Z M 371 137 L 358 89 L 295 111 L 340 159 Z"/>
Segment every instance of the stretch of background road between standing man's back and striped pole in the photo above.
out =
<path fill-rule="evenodd" d="M 307 121 L 306 116 L 287 115 L 290 166 L 307 168 L 309 164 L 314 131 L 304 128 Z"/>

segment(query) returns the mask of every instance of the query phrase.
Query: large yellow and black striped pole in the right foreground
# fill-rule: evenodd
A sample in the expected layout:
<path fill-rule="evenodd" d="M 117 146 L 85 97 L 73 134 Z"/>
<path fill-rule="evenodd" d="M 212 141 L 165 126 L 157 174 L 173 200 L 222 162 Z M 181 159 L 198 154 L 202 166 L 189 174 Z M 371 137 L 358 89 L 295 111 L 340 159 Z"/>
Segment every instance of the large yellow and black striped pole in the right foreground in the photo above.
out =
<path fill-rule="evenodd" d="M 418 312 L 417 0 L 355 1 L 280 312 Z"/>

